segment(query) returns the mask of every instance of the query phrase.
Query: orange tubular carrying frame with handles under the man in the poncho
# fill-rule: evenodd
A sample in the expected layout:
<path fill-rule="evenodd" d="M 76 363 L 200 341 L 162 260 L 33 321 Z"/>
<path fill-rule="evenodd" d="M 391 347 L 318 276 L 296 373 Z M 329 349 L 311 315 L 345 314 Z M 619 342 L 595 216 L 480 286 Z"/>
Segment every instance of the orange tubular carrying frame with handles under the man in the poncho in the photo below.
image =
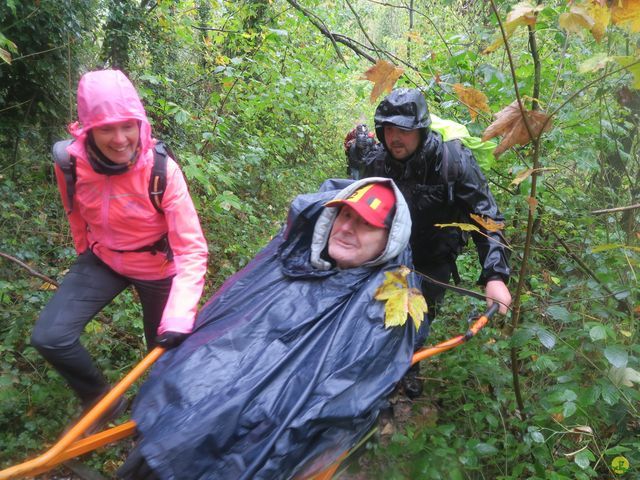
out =
<path fill-rule="evenodd" d="M 426 358 L 433 357 L 439 353 L 446 352 L 473 338 L 489 321 L 498 310 L 498 305 L 493 304 L 489 309 L 475 320 L 464 335 L 458 335 L 442 343 L 429 348 L 422 348 L 413 355 L 411 364 L 414 365 Z M 117 427 L 95 433 L 88 437 L 79 437 L 100 416 L 111 406 L 111 404 L 127 391 L 127 389 L 164 353 L 161 347 L 154 348 L 147 356 L 138 363 L 111 391 L 100 400 L 80 421 L 65 433 L 58 442 L 42 455 L 28 460 L 24 463 L 9 467 L 0 471 L 0 480 L 12 478 L 32 477 L 40 473 L 47 472 L 57 465 L 71 458 L 92 452 L 99 447 L 116 442 L 130 435 L 133 435 L 136 424 L 133 420 L 118 425 Z M 329 480 L 340 467 L 342 461 L 347 457 L 345 452 L 333 464 L 329 465 L 322 472 L 311 476 L 308 480 Z"/>

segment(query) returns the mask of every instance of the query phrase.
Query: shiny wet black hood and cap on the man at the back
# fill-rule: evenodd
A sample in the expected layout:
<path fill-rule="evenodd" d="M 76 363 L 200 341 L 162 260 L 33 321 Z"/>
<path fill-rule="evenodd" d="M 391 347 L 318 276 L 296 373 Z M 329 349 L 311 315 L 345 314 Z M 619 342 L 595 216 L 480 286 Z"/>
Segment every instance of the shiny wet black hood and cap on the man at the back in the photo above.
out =
<path fill-rule="evenodd" d="M 396 88 L 376 108 L 373 117 L 378 140 L 384 141 L 384 125 L 393 125 L 403 130 L 427 129 L 431 125 L 429 109 L 424 95 L 417 88 Z"/>

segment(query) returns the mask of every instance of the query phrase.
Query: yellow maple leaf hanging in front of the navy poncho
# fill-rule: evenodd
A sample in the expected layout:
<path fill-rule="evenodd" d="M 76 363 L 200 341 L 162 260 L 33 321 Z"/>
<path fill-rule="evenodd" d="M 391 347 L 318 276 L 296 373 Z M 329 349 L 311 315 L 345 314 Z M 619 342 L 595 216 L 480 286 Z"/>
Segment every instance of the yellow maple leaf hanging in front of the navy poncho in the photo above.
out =
<path fill-rule="evenodd" d="M 402 326 L 407 315 L 413 320 L 416 330 L 420 328 L 427 313 L 427 302 L 417 288 L 409 288 L 407 275 L 411 270 L 405 266 L 393 272 L 385 272 L 385 280 L 378 287 L 374 298 L 386 301 L 384 306 L 385 327 Z"/>

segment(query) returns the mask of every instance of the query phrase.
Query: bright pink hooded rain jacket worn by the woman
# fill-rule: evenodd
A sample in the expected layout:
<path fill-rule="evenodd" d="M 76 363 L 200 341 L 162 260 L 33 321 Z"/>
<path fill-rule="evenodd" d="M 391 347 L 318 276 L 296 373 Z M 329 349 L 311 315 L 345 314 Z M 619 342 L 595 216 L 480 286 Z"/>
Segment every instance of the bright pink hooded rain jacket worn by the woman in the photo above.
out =
<path fill-rule="evenodd" d="M 73 212 L 68 215 L 76 251 L 80 254 L 91 248 L 113 270 L 138 280 L 175 275 L 158 333 L 191 332 L 207 268 L 207 244 L 182 172 L 169 158 L 164 214 L 158 213 L 148 193 L 155 141 L 140 98 L 120 71 L 90 72 L 82 77 L 78 116 L 82 126 L 69 127 L 76 141 L 67 148 L 76 158 L 76 194 Z M 140 121 L 138 160 L 121 175 L 96 173 L 85 150 L 87 132 L 132 118 Z M 68 211 L 66 182 L 57 166 L 56 178 Z M 164 234 L 173 250 L 172 262 L 161 252 L 116 251 L 152 245 Z"/>

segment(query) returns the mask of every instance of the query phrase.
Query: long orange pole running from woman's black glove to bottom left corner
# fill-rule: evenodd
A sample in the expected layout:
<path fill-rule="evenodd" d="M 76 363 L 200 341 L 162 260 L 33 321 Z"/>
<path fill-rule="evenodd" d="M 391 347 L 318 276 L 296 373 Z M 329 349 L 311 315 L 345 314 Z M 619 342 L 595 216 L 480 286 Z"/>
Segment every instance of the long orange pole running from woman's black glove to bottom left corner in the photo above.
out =
<path fill-rule="evenodd" d="M 59 458 L 64 457 L 64 451 L 69 447 L 84 431 L 93 425 L 100 416 L 111 406 L 111 404 L 135 382 L 153 363 L 164 353 L 164 348 L 156 347 L 142 361 L 136 365 L 113 389 L 100 400 L 71 430 L 62 436 L 58 442 L 47 452 L 27 462 L 15 465 L 0 471 L 0 480 L 18 478 L 30 474 L 33 470 L 41 467 L 51 467 L 57 464 Z M 95 447 L 94 447 L 95 448 Z M 54 463 L 57 462 L 57 463 Z M 46 470 L 45 470 L 46 471 Z"/>

